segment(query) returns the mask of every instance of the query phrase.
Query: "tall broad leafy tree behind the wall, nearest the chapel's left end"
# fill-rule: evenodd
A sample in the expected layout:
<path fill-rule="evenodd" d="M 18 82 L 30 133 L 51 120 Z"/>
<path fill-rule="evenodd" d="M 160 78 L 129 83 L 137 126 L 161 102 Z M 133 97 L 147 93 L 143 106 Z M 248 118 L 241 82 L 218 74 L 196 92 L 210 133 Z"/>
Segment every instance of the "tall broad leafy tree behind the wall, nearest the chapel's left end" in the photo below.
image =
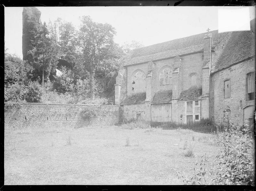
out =
<path fill-rule="evenodd" d="M 103 60 L 113 58 L 116 34 L 115 28 L 105 23 L 93 22 L 89 16 L 83 16 L 77 34 L 78 58 L 77 73 L 84 79 L 88 73 L 93 75 L 97 66 L 103 64 Z M 84 73 L 87 71 L 88 73 Z"/>

